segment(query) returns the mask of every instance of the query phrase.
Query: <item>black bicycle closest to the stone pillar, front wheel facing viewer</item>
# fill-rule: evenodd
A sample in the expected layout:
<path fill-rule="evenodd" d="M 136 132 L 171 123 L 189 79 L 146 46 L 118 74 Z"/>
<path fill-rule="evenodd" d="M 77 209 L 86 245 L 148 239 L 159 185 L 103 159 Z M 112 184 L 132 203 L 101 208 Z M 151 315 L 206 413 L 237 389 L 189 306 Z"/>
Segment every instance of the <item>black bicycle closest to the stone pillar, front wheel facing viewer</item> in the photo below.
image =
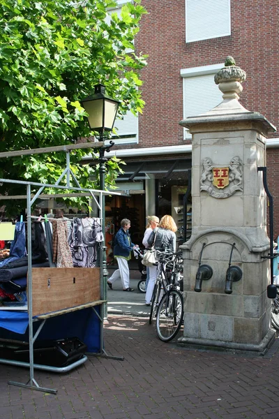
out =
<path fill-rule="evenodd" d="M 181 253 L 174 253 L 172 275 L 167 292 L 160 300 L 156 314 L 156 332 L 162 341 L 170 341 L 183 323 L 183 260 Z"/>

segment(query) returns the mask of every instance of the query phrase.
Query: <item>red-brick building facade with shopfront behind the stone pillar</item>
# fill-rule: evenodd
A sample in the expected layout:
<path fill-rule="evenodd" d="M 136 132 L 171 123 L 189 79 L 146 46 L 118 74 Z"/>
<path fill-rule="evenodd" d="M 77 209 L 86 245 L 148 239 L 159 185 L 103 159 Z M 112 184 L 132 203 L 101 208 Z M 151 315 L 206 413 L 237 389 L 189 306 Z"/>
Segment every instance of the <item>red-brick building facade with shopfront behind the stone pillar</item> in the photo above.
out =
<path fill-rule="evenodd" d="M 124 2 L 119 0 L 119 6 Z M 197 5 L 199 10 L 195 10 Z M 156 212 L 161 216 L 166 211 L 173 212 L 175 206 L 177 210 L 177 205 L 181 205 L 181 195 L 188 187 L 191 141 L 179 126 L 179 121 L 188 116 L 187 112 L 189 116 L 198 115 L 199 105 L 205 105 L 207 100 L 205 97 L 201 98 L 204 103 L 193 103 L 191 113 L 191 103 L 186 102 L 189 89 L 192 89 L 191 84 L 187 84 L 188 76 L 193 69 L 197 79 L 193 78 L 194 88 L 189 97 L 194 102 L 200 96 L 199 81 L 207 80 L 202 79 L 203 75 L 211 71 L 213 78 L 213 69 L 221 67 L 225 57 L 231 55 L 236 65 L 247 73 L 241 104 L 248 110 L 262 113 L 276 128 L 279 126 L 278 0 L 142 0 L 142 6 L 148 14 L 142 17 L 135 49 L 137 53 L 149 55 L 148 66 L 141 73 L 144 82 L 142 98 L 146 105 L 138 119 L 137 142 L 116 144 L 110 153 L 127 163 L 124 167 L 126 176 L 119 179 L 119 188 L 121 182 L 126 182 L 122 189 L 137 189 L 135 196 L 126 200 L 125 205 L 142 206 L 140 234 L 145 215 Z M 191 41 L 199 38 L 198 31 L 203 31 L 202 20 L 207 16 L 209 21 L 205 20 L 204 26 L 209 35 Z M 189 27 L 192 35 L 189 35 Z M 213 34 L 216 33 L 215 27 L 221 35 L 225 31 L 225 36 L 210 37 L 211 29 Z M 199 72 L 199 68 L 204 71 Z M 218 94 L 218 87 L 212 86 L 212 92 Z M 210 93 L 209 98 L 211 96 Z M 220 94 L 216 104 L 221 100 Z M 207 110 L 211 108 L 213 105 Z M 274 198 L 275 237 L 279 235 L 278 147 L 279 135 L 275 133 L 267 143 L 267 176 Z M 180 168 L 176 161 L 179 161 Z M 155 163 L 157 168 L 154 168 Z M 139 182 L 140 186 L 137 186 Z M 150 182 L 151 187 L 148 186 Z M 162 194 L 167 188 L 167 193 L 172 193 L 169 198 Z M 174 193 L 175 189 L 177 193 Z M 177 199 L 179 203 L 174 202 Z M 164 200 L 167 205 L 164 205 Z"/>

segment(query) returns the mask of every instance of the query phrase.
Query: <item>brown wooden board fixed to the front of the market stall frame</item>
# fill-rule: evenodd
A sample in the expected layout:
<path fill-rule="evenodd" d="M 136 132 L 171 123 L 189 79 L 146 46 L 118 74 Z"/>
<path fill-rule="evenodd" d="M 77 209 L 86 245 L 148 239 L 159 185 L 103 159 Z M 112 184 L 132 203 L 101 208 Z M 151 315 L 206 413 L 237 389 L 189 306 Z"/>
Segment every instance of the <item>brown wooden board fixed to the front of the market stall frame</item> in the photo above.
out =
<path fill-rule="evenodd" d="M 100 300 L 98 267 L 33 267 L 33 316 Z"/>

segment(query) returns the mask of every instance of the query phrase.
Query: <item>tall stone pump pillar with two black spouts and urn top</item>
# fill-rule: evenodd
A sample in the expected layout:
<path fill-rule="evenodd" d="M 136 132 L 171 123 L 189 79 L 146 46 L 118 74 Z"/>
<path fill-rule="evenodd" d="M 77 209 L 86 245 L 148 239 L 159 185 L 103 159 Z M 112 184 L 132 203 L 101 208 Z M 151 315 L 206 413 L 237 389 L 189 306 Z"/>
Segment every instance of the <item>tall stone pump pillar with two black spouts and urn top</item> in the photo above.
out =
<path fill-rule="evenodd" d="M 185 317 L 179 344 L 263 353 L 273 332 L 266 195 L 257 168 L 266 166 L 266 136 L 276 129 L 239 103 L 244 80 L 246 73 L 227 57 L 215 75 L 223 101 L 180 122 L 193 135 L 193 229 L 181 246 Z M 211 267 L 210 279 L 210 268 L 202 265 Z"/>

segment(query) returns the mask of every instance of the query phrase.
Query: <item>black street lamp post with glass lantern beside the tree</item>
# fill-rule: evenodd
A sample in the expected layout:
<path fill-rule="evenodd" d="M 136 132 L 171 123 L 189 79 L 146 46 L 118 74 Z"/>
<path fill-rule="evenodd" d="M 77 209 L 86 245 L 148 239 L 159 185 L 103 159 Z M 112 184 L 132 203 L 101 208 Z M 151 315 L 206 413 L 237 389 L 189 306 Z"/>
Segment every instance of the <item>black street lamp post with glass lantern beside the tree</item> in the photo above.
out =
<path fill-rule="evenodd" d="M 112 131 L 114 126 L 114 121 L 117 114 L 117 109 L 119 107 L 119 101 L 115 101 L 110 96 L 105 94 L 105 86 L 103 84 L 96 84 L 95 92 L 91 96 L 80 101 L 84 110 L 89 114 L 88 122 L 92 131 L 97 131 L 99 133 L 99 140 L 104 140 L 105 131 Z M 105 152 L 108 152 L 110 148 L 114 145 L 114 142 L 110 141 L 110 145 L 103 145 L 99 149 L 99 164 L 100 164 L 100 184 L 99 189 L 105 189 L 105 162 L 107 158 L 105 157 Z M 102 193 L 101 199 L 101 209 L 102 209 L 102 228 L 103 228 L 103 299 L 106 300 L 107 297 L 107 255 L 105 246 L 105 196 Z"/>

